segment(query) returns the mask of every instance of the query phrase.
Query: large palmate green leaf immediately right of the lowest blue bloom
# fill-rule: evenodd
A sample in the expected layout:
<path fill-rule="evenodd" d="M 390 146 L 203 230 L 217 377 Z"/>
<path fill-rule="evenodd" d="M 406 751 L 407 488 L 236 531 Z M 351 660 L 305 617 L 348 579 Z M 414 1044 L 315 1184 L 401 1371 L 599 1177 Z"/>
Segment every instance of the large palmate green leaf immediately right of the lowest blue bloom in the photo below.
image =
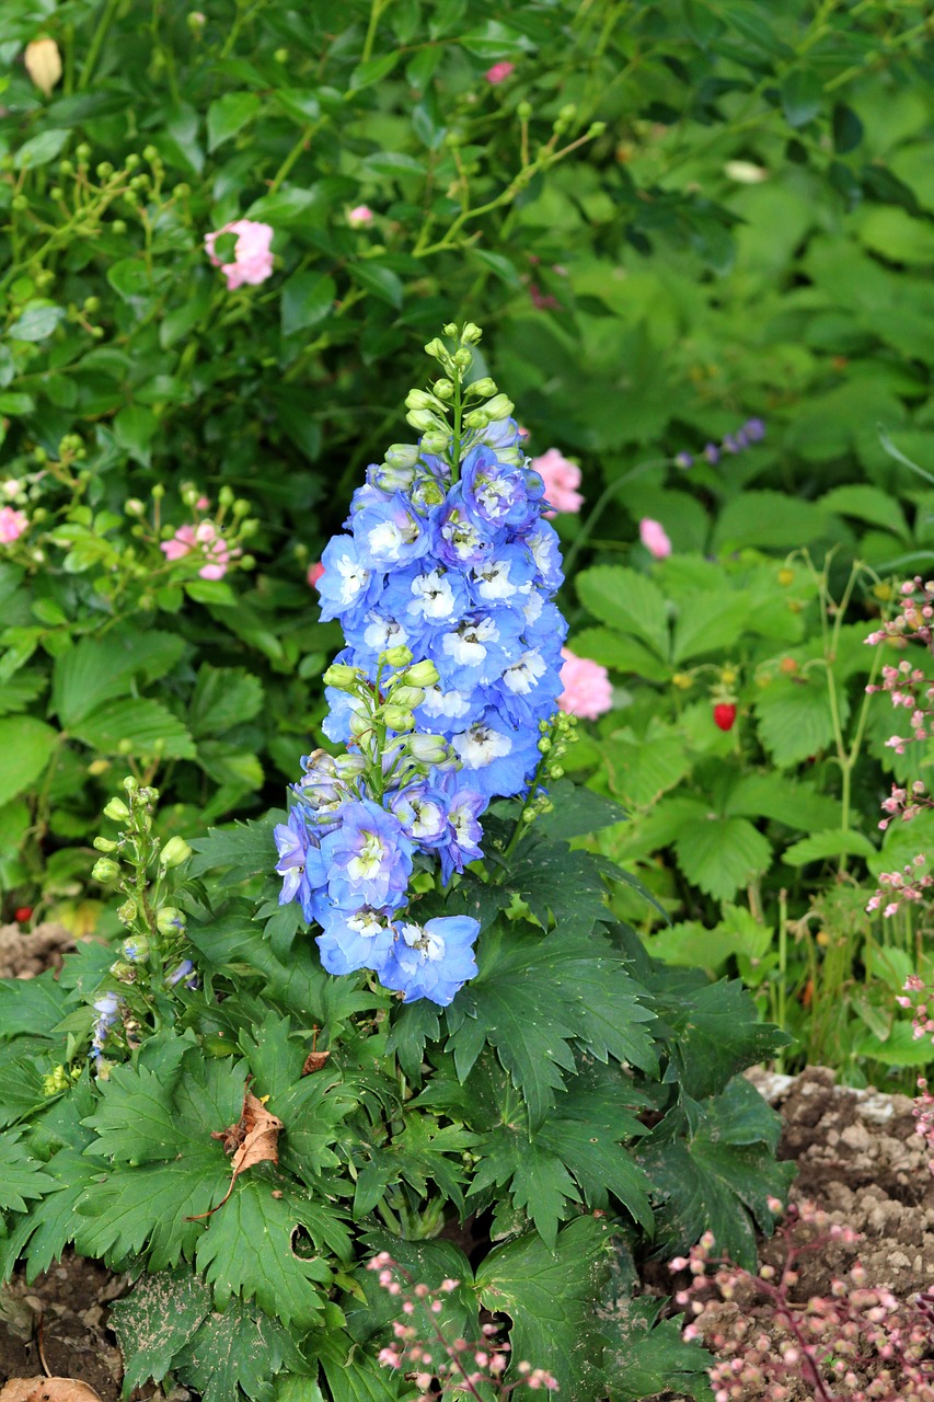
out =
<path fill-rule="evenodd" d="M 526 927 L 527 930 L 527 927 Z M 485 1042 L 522 1091 L 533 1127 L 575 1071 L 571 1042 L 599 1060 L 655 1064 L 639 987 L 609 945 L 558 927 L 541 938 L 498 923 L 481 937 L 481 973 L 447 1009 L 457 1074 L 470 1074 Z"/>

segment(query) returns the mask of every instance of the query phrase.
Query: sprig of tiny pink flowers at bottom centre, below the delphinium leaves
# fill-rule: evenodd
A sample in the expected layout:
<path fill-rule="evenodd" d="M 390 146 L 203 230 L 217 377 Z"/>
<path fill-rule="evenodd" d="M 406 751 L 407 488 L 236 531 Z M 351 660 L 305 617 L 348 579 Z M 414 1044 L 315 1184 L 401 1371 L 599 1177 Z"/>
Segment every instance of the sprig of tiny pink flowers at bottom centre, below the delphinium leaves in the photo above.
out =
<path fill-rule="evenodd" d="M 516 1380 L 503 1381 L 509 1366 L 509 1345 L 496 1339 L 502 1332 L 496 1323 L 482 1325 L 481 1343 L 447 1339 L 438 1315 L 445 1308 L 443 1297 L 457 1290 L 459 1280 L 442 1280 L 435 1290 L 421 1281 L 415 1284 L 412 1276 L 387 1251 L 373 1256 L 367 1262 L 367 1270 L 377 1272 L 380 1286 L 398 1300 L 405 1316 L 393 1323 L 395 1342 L 380 1349 L 379 1361 L 387 1368 L 405 1368 L 407 1374 L 414 1375 L 415 1387 L 421 1388 L 418 1402 L 439 1402 L 439 1398 L 453 1395 L 481 1402 L 481 1398 L 488 1396 L 488 1388 L 494 1388 L 499 1402 L 505 1402 L 523 1384 L 533 1391 L 557 1391 L 557 1378 L 544 1368 L 533 1368 L 524 1360 L 515 1366 Z M 407 1323 L 407 1319 L 411 1322 Z M 435 1391 L 435 1384 L 439 1391 Z M 484 1388 L 482 1394 L 478 1387 Z"/>

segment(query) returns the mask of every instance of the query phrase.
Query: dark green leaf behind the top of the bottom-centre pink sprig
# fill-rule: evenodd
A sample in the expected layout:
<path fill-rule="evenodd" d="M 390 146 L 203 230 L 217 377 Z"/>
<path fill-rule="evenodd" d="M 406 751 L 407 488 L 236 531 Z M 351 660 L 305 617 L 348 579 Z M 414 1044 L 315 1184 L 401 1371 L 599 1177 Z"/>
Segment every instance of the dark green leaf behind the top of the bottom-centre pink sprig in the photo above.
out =
<path fill-rule="evenodd" d="M 450 1339 L 480 1338 L 477 1298 L 471 1288 L 474 1273 L 460 1246 L 450 1241 L 405 1241 L 381 1230 L 365 1232 L 363 1242 L 367 1253 L 388 1252 L 402 1270 L 429 1290 L 438 1290 L 442 1280 L 457 1280 L 457 1290 L 439 1291 L 443 1308 L 435 1316 L 438 1326 Z M 401 1309 L 397 1297 L 380 1286 L 373 1270 L 360 1266 L 355 1272 L 355 1279 L 366 1295 L 366 1302 L 348 1295 L 342 1302 L 344 1315 L 348 1333 L 359 1343 L 367 1343 L 393 1319 L 400 1318 Z"/>

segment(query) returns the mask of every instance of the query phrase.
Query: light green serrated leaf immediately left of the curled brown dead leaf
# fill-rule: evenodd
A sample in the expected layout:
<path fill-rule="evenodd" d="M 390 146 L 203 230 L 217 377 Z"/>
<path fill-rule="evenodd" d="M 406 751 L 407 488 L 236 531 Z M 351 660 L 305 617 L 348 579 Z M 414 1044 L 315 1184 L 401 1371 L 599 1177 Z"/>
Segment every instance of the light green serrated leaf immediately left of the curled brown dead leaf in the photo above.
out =
<path fill-rule="evenodd" d="M 114 1169 L 90 1183 L 77 1204 L 74 1242 L 84 1256 L 121 1266 L 147 1249 L 150 1269 L 164 1270 L 192 1256 L 203 1221 L 230 1185 L 230 1162 L 217 1145 L 168 1164 Z"/>

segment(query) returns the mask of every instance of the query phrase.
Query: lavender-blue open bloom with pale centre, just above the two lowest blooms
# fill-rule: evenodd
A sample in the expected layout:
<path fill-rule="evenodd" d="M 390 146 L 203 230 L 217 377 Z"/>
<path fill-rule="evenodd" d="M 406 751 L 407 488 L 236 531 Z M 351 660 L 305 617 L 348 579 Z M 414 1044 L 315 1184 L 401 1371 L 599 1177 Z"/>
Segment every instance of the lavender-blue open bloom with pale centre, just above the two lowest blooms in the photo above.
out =
<path fill-rule="evenodd" d="M 372 799 L 346 803 L 341 826 L 321 841 L 327 892 L 342 910 L 402 904 L 412 872 L 412 844 L 393 813 Z"/>

